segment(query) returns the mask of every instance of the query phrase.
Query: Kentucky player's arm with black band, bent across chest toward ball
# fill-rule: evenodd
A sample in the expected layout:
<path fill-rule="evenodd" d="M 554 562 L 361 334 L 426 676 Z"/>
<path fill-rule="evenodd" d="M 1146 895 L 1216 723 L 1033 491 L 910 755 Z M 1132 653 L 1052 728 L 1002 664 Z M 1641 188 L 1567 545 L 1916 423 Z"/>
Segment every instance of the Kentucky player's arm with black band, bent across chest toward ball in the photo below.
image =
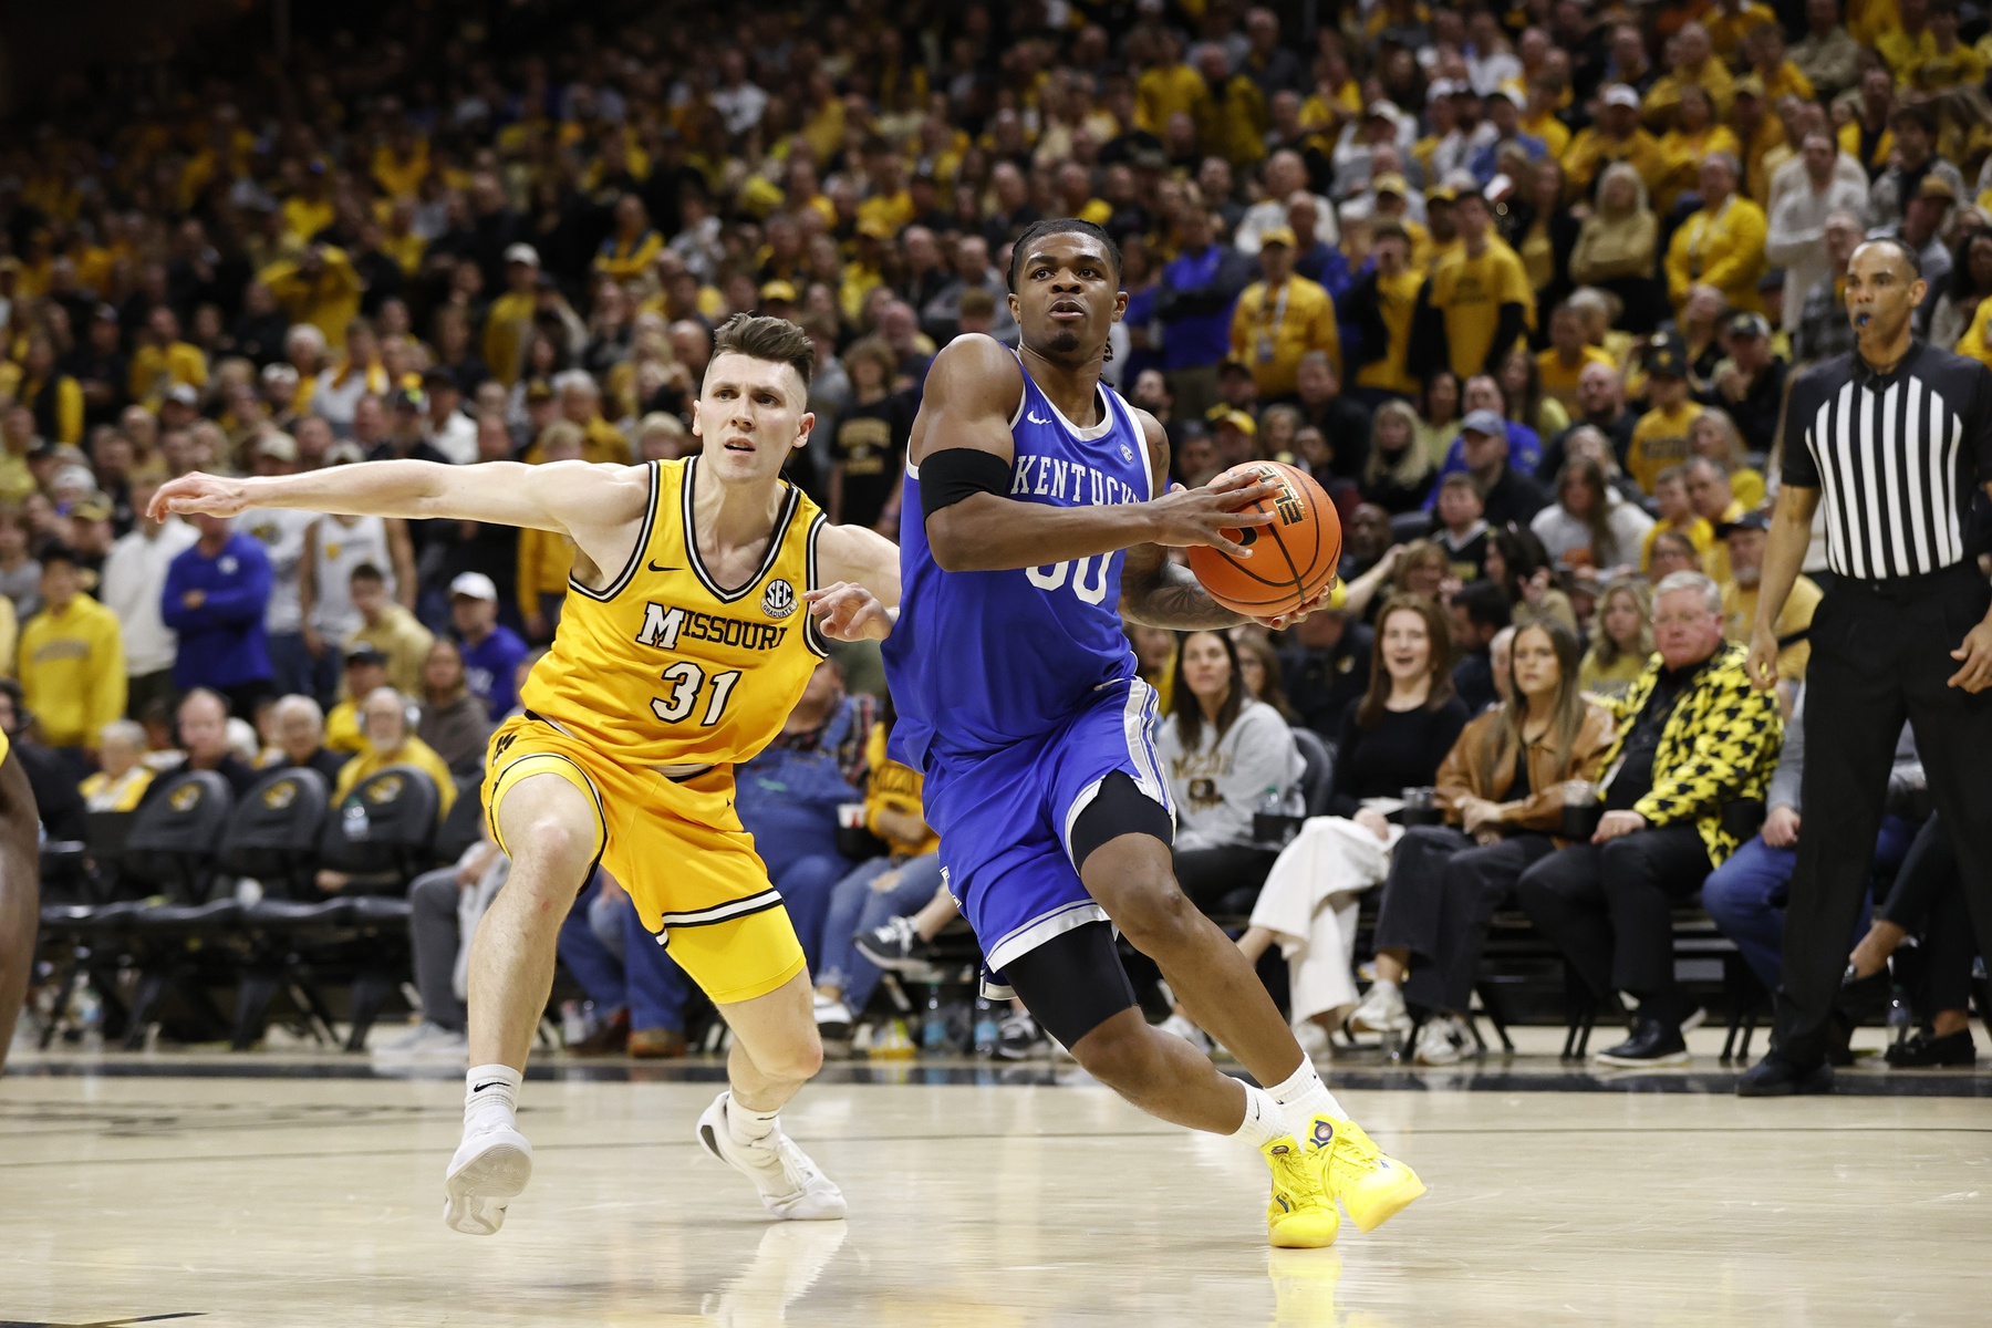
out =
<path fill-rule="evenodd" d="M 932 474 L 920 478 L 920 500 L 926 508 L 926 544 L 942 571 L 1042 567 L 1118 553 L 1139 544 L 1211 544 L 1227 553 L 1249 555 L 1223 530 L 1273 520 L 1237 512 L 1273 494 L 1271 484 L 1219 480 L 1153 502 L 1100 508 L 1052 508 L 1010 498 L 1008 482 L 996 480 L 1016 462 L 1010 418 L 1022 390 L 1024 370 L 1016 356 L 982 334 L 950 340 L 926 372 L 920 414 L 912 422 L 910 456 L 916 466 L 932 468 Z M 980 452 L 996 464 L 948 466 L 950 476 L 944 478 L 942 462 L 934 458 L 960 452 Z M 990 482 L 964 478 L 976 470 Z"/>

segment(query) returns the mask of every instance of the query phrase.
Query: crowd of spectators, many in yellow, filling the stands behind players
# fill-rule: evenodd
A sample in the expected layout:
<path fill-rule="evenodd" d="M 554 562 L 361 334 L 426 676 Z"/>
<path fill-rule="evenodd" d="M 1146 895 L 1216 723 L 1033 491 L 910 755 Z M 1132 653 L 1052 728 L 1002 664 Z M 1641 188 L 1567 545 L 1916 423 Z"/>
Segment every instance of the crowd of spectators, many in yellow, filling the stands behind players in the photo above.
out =
<path fill-rule="evenodd" d="M 58 80 L 0 145 L 0 719 L 52 834 L 179 765 L 237 788 L 311 765 L 339 792 L 416 765 L 446 806 L 560 621 L 574 550 L 556 536 L 153 522 L 163 480 L 679 458 L 713 327 L 753 311 L 817 346 L 793 482 L 896 538 L 926 364 L 966 332 L 1016 344 L 1010 243 L 1074 215 L 1120 245 L 1106 376 L 1161 420 L 1173 478 L 1291 460 L 1343 520 L 1343 589 L 1293 629 L 1129 627 L 1163 693 L 1183 886 L 1249 920 L 1247 952 L 1283 952 L 1297 1023 L 1416 1025 L 1416 1055 L 1456 1059 L 1504 904 L 1596 999 L 1635 997 L 1633 1063 L 1673 1055 L 1693 1015 L 1665 930 L 1697 890 L 1775 982 L 1823 542 L 1779 621 L 1775 697 L 1747 695 L 1737 643 L 1785 384 L 1851 346 L 1843 279 L 1867 235 L 1918 251 L 1918 334 L 1992 364 L 1976 10 L 590 14 L 317 12 L 283 58 L 245 58 L 263 30 L 235 22 Z M 876 659 L 847 653 L 739 771 L 833 1031 L 872 999 L 869 956 L 948 922 L 880 693 Z M 1323 814 L 1275 846 L 1253 810 L 1301 782 L 1295 731 L 1331 775 Z M 1606 780 L 1600 846 L 1564 834 L 1574 780 Z M 1446 824 L 1406 830 L 1418 788 Z M 839 836 L 847 804 L 865 860 Z M 446 962 L 474 910 L 456 904 L 500 884 L 492 844 L 414 882 L 410 1045 L 460 1045 Z M 1936 930 L 1944 898 L 1922 884 L 1878 912 L 1859 976 Z M 602 878 L 562 956 L 606 1011 L 600 1045 L 671 1053 L 689 984 L 635 928 Z M 1908 1061 L 1958 1053 L 1948 962 L 1954 1003 Z"/>

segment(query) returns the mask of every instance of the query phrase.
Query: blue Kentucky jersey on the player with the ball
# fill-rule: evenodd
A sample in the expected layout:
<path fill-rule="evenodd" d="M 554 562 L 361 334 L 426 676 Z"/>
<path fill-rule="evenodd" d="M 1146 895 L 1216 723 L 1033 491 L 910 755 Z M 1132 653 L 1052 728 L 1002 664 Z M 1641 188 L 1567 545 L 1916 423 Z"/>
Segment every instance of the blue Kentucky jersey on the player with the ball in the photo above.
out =
<path fill-rule="evenodd" d="M 1054 508 L 1147 502 L 1147 440 L 1133 412 L 1100 384 L 1100 424 L 1076 428 L 1024 370 L 1010 420 L 1010 498 Z M 906 466 L 898 518 L 900 607 L 884 643 L 898 725 L 892 757 L 928 769 L 928 753 L 982 753 L 1046 733 L 1096 689 L 1135 673 L 1121 633 L 1125 553 L 1046 567 L 942 571 L 926 546 L 920 472 Z"/>

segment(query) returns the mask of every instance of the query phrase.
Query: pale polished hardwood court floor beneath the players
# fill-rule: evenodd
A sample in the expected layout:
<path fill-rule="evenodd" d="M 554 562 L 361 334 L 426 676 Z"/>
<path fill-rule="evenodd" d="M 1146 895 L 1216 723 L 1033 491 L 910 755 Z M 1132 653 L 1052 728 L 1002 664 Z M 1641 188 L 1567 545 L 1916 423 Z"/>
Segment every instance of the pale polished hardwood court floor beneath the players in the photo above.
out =
<path fill-rule="evenodd" d="M 1050 1063 L 813 1085 L 787 1125 L 851 1218 L 777 1224 L 691 1141 L 715 1071 L 530 1081 L 532 1189 L 470 1238 L 438 1220 L 456 1071 L 26 1057 L 0 1081 L 0 1326 L 1992 1320 L 1984 1077 L 1743 1103 L 1713 1063 L 1649 1085 L 1675 1091 L 1526 1091 L 1554 1061 L 1351 1075 L 1398 1089 L 1345 1101 L 1430 1195 L 1269 1252 L 1255 1157 Z"/>

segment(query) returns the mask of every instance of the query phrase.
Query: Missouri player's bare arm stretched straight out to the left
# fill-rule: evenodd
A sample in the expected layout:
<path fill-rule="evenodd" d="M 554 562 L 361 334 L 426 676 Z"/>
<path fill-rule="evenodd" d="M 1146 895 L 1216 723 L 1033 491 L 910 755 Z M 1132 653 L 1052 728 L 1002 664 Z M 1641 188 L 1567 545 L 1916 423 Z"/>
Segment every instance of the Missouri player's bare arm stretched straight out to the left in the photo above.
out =
<path fill-rule="evenodd" d="M 297 476 L 193 472 L 159 486 L 151 500 L 151 516 L 153 520 L 169 512 L 235 516 L 245 508 L 297 508 L 335 516 L 528 526 L 572 536 L 582 552 L 600 563 L 602 534 L 641 520 L 647 504 L 649 474 L 643 466 L 361 462 Z M 622 550 L 623 557 L 627 552 Z"/>

